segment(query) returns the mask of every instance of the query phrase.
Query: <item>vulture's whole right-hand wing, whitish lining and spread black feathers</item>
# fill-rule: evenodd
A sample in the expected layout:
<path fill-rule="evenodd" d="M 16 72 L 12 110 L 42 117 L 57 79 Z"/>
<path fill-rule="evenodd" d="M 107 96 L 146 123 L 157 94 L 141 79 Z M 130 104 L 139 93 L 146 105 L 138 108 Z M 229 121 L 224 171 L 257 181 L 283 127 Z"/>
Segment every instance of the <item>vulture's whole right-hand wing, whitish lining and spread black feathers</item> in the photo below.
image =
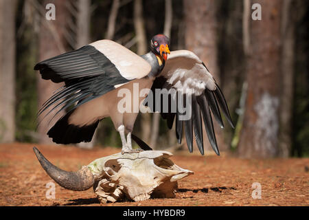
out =
<path fill-rule="evenodd" d="M 168 102 L 164 103 L 163 91 L 161 90 L 161 94 L 159 94 L 156 93 L 156 89 L 168 90 Z M 203 118 L 209 142 L 216 154 L 219 155 L 211 111 L 221 127 L 223 127 L 223 122 L 220 109 L 231 126 L 233 126 L 233 122 L 231 121 L 225 97 L 218 87 L 216 80 L 214 80 L 214 77 L 211 76 L 207 67 L 193 52 L 187 50 L 171 52 L 168 61 L 165 62 L 163 72 L 155 79 L 151 90 L 154 96 L 153 103 L 145 104 L 148 105 L 152 111 L 159 110 L 162 118 L 167 120 L 170 129 L 175 119 L 176 138 L 179 144 L 181 143 L 184 126 L 185 138 L 189 151 L 192 152 L 194 131 L 198 149 L 201 154 L 204 154 L 202 131 Z M 176 92 L 172 93 L 171 91 Z M 191 100 L 191 103 L 186 103 L 188 100 Z M 161 106 L 161 109 L 156 109 L 158 104 Z M 164 111 L 164 105 L 165 107 L 168 105 L 168 111 Z M 176 107 L 174 111 L 172 109 L 173 106 Z M 190 118 L 181 118 L 183 115 L 181 106 L 185 107 L 187 111 L 190 111 Z"/>

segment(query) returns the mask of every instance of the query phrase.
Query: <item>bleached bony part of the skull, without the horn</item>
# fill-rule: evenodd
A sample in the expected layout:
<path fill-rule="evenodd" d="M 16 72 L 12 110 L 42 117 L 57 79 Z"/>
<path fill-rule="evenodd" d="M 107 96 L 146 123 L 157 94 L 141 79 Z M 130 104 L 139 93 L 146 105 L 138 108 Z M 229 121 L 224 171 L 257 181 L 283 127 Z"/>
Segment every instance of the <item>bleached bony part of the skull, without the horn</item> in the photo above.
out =
<path fill-rule="evenodd" d="M 170 156 L 168 151 L 142 151 L 95 159 L 87 166 L 96 179 L 93 190 L 102 203 L 174 197 L 177 180 L 193 172 L 174 164 Z"/>

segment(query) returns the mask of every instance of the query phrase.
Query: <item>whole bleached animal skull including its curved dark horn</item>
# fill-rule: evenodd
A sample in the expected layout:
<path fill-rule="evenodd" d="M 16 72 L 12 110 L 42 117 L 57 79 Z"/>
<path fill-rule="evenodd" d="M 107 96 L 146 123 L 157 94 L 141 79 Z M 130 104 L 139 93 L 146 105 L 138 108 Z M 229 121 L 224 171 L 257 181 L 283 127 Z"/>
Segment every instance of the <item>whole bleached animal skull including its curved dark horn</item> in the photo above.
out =
<path fill-rule="evenodd" d="M 168 151 L 116 153 L 95 159 L 76 172 L 54 166 L 36 147 L 33 148 L 46 173 L 69 190 L 87 190 L 93 186 L 102 203 L 128 198 L 143 201 L 152 197 L 174 197 L 177 180 L 192 175 L 168 159 Z"/>

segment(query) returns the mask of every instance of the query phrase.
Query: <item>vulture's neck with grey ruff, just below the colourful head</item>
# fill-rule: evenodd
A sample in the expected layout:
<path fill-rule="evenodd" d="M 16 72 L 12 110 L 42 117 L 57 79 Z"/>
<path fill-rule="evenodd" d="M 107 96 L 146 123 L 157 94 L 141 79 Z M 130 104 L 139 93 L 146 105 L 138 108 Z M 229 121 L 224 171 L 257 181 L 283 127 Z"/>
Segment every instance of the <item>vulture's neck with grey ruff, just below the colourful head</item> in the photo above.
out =
<path fill-rule="evenodd" d="M 147 54 L 141 55 L 141 58 L 144 58 L 144 60 L 151 65 L 151 71 L 148 74 L 148 77 L 155 78 L 161 73 L 165 65 L 165 61 L 161 56 L 154 54 L 153 52 L 148 52 Z"/>

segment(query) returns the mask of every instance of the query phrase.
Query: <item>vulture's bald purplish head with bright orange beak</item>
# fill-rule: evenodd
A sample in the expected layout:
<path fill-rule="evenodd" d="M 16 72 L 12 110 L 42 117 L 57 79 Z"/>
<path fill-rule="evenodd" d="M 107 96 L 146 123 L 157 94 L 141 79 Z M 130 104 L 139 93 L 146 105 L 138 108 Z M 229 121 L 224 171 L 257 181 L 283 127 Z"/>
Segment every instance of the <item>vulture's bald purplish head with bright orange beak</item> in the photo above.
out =
<path fill-rule="evenodd" d="M 150 49 L 153 53 L 158 56 L 161 56 L 164 61 L 168 59 L 168 54 L 170 54 L 170 39 L 163 35 L 157 34 L 152 37 L 150 41 Z"/>

